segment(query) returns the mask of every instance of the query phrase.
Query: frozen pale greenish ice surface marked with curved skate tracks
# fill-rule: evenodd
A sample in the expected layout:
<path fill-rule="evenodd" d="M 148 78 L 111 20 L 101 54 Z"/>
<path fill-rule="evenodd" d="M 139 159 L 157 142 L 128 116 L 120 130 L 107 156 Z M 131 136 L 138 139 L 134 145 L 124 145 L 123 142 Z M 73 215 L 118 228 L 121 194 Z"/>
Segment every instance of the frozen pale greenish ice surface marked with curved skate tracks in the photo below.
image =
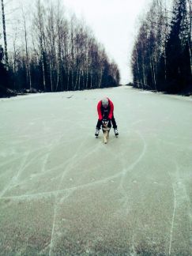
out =
<path fill-rule="evenodd" d="M 108 96 L 119 128 L 95 138 Z M 192 255 L 192 100 L 128 87 L 0 99 L 0 255 Z"/>

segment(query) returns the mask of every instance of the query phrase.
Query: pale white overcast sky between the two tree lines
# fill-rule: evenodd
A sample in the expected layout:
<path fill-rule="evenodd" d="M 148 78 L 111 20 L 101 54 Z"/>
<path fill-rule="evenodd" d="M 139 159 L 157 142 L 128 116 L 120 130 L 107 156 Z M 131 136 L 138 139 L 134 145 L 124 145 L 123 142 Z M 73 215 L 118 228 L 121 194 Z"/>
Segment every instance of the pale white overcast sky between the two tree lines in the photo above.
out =
<path fill-rule="evenodd" d="M 119 66 L 121 83 L 131 81 L 130 55 L 137 17 L 150 0 L 63 0 L 77 17 L 83 17 Z"/>

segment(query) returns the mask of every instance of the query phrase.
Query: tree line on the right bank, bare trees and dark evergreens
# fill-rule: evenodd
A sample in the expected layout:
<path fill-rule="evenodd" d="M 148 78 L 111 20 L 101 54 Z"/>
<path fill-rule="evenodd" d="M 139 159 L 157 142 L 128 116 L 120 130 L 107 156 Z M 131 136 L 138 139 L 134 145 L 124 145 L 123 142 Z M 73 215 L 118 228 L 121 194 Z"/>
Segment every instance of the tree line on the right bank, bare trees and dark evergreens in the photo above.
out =
<path fill-rule="evenodd" d="M 141 21 L 131 68 L 135 88 L 192 93 L 192 2 L 153 0 Z"/>

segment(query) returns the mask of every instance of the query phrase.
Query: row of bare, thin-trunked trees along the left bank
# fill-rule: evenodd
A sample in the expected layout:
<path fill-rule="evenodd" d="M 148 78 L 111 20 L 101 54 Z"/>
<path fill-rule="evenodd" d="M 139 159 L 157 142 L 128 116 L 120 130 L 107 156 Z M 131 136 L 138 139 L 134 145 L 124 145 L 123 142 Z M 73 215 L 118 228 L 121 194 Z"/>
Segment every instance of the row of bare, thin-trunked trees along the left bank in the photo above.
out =
<path fill-rule="evenodd" d="M 13 50 L 9 52 L 2 12 L 0 39 L 4 38 L 6 51 L 0 63 L 0 76 L 4 77 L 0 88 L 61 92 L 119 85 L 119 68 L 107 57 L 104 46 L 85 22 L 66 13 L 59 1 L 36 0 L 30 21 L 22 2 L 17 12 L 21 29 L 13 32 Z"/>

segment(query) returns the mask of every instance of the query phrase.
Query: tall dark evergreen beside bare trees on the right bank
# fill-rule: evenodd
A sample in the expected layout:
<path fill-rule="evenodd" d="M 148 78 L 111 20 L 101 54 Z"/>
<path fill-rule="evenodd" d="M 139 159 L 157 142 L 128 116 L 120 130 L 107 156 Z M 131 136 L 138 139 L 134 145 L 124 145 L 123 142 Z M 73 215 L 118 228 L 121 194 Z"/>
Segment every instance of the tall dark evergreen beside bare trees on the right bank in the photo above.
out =
<path fill-rule="evenodd" d="M 186 0 L 176 0 L 171 21 L 171 32 L 165 46 L 167 56 L 167 91 L 181 92 L 190 77 L 190 55 L 187 40 Z M 186 79 L 186 77 L 188 77 Z"/>

